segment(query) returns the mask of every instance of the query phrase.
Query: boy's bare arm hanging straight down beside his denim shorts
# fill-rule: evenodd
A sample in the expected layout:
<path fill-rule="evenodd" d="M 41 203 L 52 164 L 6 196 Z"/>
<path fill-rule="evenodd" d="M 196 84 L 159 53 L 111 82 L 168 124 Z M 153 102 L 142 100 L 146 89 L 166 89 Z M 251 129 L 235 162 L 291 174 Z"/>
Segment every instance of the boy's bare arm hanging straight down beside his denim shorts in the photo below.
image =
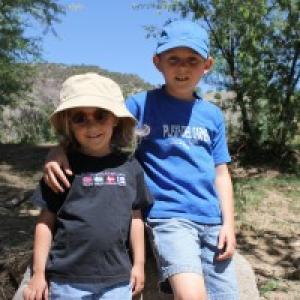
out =
<path fill-rule="evenodd" d="M 231 177 L 226 164 L 216 167 L 216 190 L 220 199 L 223 225 L 219 235 L 218 249 L 221 250 L 218 260 L 232 257 L 235 247 L 234 203 Z"/>

